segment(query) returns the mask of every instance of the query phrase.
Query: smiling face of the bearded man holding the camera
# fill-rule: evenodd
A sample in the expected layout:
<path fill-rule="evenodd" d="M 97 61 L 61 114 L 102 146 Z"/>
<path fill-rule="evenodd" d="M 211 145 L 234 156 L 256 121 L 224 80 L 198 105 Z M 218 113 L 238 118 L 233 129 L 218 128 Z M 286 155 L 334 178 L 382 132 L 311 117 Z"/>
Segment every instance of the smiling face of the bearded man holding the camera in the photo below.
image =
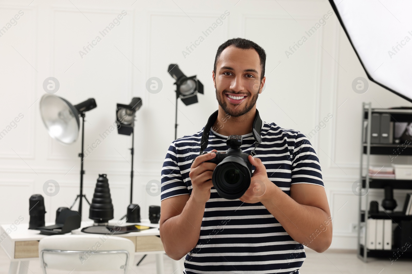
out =
<path fill-rule="evenodd" d="M 216 62 L 216 74 L 213 73 L 220 107 L 233 117 L 248 113 L 265 83 L 265 77 L 260 81 L 260 74 L 260 58 L 254 48 L 225 48 Z"/>

